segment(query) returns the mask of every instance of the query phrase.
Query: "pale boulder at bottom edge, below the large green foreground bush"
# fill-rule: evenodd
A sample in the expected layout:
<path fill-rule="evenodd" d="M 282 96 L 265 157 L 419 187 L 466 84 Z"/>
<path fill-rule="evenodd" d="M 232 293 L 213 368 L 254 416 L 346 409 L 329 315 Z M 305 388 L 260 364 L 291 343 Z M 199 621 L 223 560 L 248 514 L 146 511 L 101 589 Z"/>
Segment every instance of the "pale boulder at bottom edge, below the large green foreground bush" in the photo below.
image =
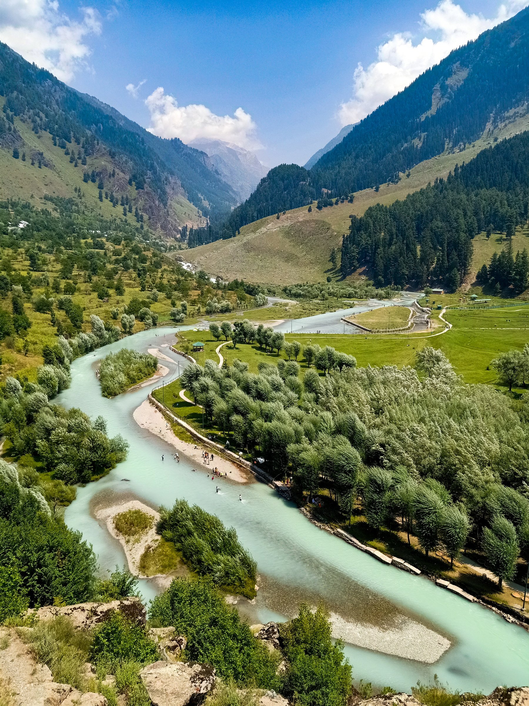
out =
<path fill-rule="evenodd" d="M 152 706 L 198 706 L 215 684 L 215 670 L 197 662 L 154 662 L 140 671 Z"/>

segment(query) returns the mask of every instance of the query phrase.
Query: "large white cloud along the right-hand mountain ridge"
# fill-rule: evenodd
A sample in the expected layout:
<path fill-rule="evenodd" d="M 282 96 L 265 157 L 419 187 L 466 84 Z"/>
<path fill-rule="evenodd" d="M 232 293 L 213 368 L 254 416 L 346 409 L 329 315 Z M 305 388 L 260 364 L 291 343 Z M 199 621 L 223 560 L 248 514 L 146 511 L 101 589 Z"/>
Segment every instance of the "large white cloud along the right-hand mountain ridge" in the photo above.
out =
<path fill-rule="evenodd" d="M 342 126 L 365 118 L 453 49 L 475 40 L 481 32 L 504 22 L 527 5 L 528 0 L 510 0 L 499 6 L 492 19 L 468 15 L 452 0 L 442 0 L 434 10 L 425 11 L 420 16 L 423 34 L 420 42 L 414 44 L 409 33 L 399 32 L 380 44 L 377 61 L 367 68 L 358 64 L 353 76 L 353 97 L 339 109 Z"/>

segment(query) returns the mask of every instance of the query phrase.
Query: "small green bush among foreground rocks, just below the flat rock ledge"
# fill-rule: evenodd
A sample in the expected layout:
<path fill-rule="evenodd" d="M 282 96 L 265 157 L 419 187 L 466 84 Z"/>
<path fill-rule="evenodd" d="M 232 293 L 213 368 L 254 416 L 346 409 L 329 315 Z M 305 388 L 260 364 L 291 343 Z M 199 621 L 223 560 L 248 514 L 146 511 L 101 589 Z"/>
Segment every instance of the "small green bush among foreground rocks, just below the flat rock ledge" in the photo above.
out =
<path fill-rule="evenodd" d="M 115 671 L 123 662 L 149 664 L 159 658 L 154 642 L 147 637 L 145 627 L 129 621 L 114 611 L 98 628 L 90 647 L 90 659 Z"/>

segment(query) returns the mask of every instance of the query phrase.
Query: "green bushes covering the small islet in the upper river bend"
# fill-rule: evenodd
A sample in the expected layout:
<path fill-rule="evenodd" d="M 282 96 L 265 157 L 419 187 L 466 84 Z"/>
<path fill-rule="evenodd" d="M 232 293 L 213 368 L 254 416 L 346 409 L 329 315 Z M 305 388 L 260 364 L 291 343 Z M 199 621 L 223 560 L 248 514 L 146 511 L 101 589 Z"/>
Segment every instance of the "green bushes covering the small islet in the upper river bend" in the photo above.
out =
<path fill-rule="evenodd" d="M 122 348 L 109 353 L 99 368 L 101 391 L 105 397 L 114 397 L 130 385 L 149 378 L 156 371 L 158 360 L 150 353 Z"/>

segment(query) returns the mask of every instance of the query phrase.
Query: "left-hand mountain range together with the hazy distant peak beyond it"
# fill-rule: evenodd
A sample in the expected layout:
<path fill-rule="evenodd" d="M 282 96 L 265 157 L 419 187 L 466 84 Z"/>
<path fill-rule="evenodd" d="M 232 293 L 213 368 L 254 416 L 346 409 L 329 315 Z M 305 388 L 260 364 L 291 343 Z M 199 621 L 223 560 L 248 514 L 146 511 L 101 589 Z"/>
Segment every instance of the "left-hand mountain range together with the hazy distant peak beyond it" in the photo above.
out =
<path fill-rule="evenodd" d="M 16 149 L 20 154 L 28 148 L 32 160 L 39 155 L 37 161 L 46 169 L 46 179 L 56 184 L 65 181 L 61 155 L 54 150 L 52 157 L 46 149 L 49 139 L 43 139 L 53 138 L 54 147 L 64 144 L 63 152 L 78 153 L 72 162 L 75 167 L 83 160 L 83 172 L 96 172 L 97 181 L 105 183 L 105 193 L 110 186 L 119 198 L 133 184 L 130 199 L 149 218 L 150 225 L 166 235 L 178 236 L 190 219 L 200 225 L 206 217 L 221 218 L 241 203 L 266 173 L 255 155 L 234 145 L 204 143 L 202 149 L 178 138 L 154 136 L 113 107 L 25 61 L 1 42 L 0 106 L 0 148 Z M 62 161 L 68 164 L 68 160 Z M 23 189 L 23 160 L 2 163 L 8 165 L 8 180 L 17 184 L 20 196 L 31 199 Z M 115 176 L 109 177 L 113 173 Z M 68 182 L 80 183 L 72 175 L 66 178 Z M 63 189 L 61 195 L 71 194 Z"/>

